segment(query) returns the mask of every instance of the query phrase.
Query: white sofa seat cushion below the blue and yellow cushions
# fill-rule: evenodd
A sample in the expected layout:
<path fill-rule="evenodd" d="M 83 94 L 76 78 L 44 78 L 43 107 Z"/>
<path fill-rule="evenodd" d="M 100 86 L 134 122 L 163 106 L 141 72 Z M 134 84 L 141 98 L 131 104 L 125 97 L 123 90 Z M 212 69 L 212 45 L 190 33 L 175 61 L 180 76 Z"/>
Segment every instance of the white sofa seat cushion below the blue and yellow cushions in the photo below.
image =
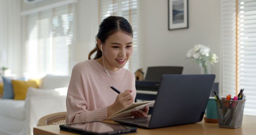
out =
<path fill-rule="evenodd" d="M 14 119 L 25 119 L 25 101 L 0 99 L 0 115 Z"/>

